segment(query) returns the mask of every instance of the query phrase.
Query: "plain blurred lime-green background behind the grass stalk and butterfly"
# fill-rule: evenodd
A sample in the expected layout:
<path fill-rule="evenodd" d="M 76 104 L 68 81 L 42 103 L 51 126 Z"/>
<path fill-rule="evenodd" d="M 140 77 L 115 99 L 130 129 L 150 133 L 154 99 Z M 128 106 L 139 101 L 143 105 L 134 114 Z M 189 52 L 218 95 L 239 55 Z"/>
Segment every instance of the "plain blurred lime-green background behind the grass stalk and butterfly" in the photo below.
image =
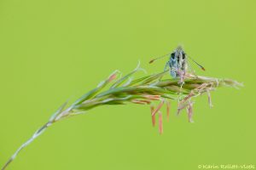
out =
<path fill-rule="evenodd" d="M 78 98 L 114 71 L 163 70 L 154 56 L 182 44 L 204 65 L 199 75 L 245 87 L 195 99 L 195 123 L 172 102 L 164 134 L 148 106 L 103 106 L 56 123 L 9 169 L 198 169 L 256 164 L 256 3 L 246 1 L 0 1 L 0 165 L 66 99 Z M 143 73 L 140 73 L 143 75 Z"/>

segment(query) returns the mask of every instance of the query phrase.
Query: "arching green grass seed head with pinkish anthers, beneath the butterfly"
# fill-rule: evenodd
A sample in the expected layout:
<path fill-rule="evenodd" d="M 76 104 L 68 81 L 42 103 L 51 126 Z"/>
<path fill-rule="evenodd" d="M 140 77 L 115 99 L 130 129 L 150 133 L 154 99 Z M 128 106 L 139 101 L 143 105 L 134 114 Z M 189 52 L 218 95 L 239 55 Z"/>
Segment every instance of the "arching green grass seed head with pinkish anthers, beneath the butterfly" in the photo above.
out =
<path fill-rule="evenodd" d="M 154 60 L 150 61 L 151 63 Z M 114 71 L 106 80 L 100 82 L 98 86 L 81 98 L 76 100 L 73 104 L 67 106 L 67 102 L 61 105 L 60 109 L 49 118 L 49 122 L 40 127 L 36 133 L 28 139 L 26 143 L 22 144 L 15 154 L 10 157 L 9 161 L 3 166 L 2 170 L 9 166 L 15 157 L 20 153 L 27 144 L 30 144 L 34 139 L 44 132 L 44 130 L 60 120 L 85 113 L 91 109 L 101 105 L 126 105 L 126 104 L 141 104 L 150 105 L 150 113 L 152 117 L 152 124 L 156 124 L 156 114 L 158 114 L 159 133 L 163 133 L 163 115 L 160 111 L 166 102 L 166 114 L 169 119 L 170 103 L 168 100 L 177 100 L 177 114 L 183 109 L 186 109 L 189 116 L 189 122 L 193 122 L 192 106 L 198 95 L 207 93 L 209 105 L 212 106 L 212 99 L 210 91 L 216 88 L 228 86 L 239 88 L 242 83 L 230 79 L 218 79 L 212 77 L 200 77 L 190 73 L 180 72 L 181 79 L 172 79 L 171 77 L 163 79 L 169 74 L 170 70 L 163 71 L 157 74 L 148 75 L 132 80 L 132 76 L 137 71 L 143 71 L 139 65 L 134 71 L 131 71 L 125 77 L 118 78 L 119 71 Z M 182 83 L 181 83 L 182 82 Z M 110 88 L 109 88 L 110 86 Z M 154 101 L 160 101 L 154 109 Z"/>

